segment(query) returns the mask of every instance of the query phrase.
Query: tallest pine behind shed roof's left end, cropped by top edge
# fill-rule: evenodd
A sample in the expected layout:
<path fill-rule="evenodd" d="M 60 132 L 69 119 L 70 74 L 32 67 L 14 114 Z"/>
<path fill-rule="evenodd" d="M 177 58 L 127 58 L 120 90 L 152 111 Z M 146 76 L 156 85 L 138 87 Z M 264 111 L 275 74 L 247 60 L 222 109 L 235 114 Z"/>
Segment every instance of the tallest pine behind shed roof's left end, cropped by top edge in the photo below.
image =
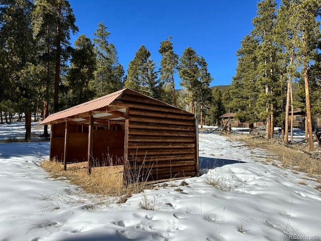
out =
<path fill-rule="evenodd" d="M 69 57 L 70 34 L 75 34 L 78 28 L 67 0 L 35 0 L 35 3 L 35 35 L 38 39 L 38 47 L 40 47 L 39 52 L 43 55 L 43 62 L 46 66 L 46 81 L 50 83 L 47 85 L 47 89 L 49 89 L 47 91 L 50 93 L 49 86 L 51 84 L 54 86 L 54 112 L 57 112 L 60 109 L 61 66 Z"/>

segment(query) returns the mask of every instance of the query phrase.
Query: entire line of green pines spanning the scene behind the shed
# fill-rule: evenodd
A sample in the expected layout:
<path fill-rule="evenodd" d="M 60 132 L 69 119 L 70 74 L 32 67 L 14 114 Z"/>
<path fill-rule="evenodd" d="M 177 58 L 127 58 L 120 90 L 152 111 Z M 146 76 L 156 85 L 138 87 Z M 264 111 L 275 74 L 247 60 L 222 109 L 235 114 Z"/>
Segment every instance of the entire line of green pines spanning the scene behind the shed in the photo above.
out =
<path fill-rule="evenodd" d="M 291 130 L 289 113 L 301 107 L 311 143 L 313 121 L 321 116 L 320 1 L 282 0 L 277 6 L 261 0 L 253 30 L 237 51 L 236 74 L 222 90 L 209 87 L 213 78 L 204 57 L 191 47 L 179 56 L 172 37 L 159 43 L 159 66 L 141 45 L 125 72 L 104 23 L 92 40 L 80 35 L 72 47 L 70 34 L 78 28 L 67 0 L 0 0 L 1 122 L 2 113 L 24 112 L 28 141 L 32 113 L 46 117 L 129 87 L 197 114 L 201 125 L 219 125 L 225 112 L 263 121 L 267 138 L 275 126 Z"/>

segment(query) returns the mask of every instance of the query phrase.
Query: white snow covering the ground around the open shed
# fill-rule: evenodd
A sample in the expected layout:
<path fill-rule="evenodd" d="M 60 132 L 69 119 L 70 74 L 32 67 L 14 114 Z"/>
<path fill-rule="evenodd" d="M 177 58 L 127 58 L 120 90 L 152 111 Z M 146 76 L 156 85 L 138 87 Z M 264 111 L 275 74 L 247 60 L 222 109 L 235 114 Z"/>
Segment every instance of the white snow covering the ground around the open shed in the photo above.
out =
<path fill-rule="evenodd" d="M 200 133 L 199 149 L 201 176 L 116 204 L 50 178 L 39 167 L 48 142 L 0 144 L 0 240 L 321 239 L 311 178 L 263 164 L 273 159 L 267 151 L 216 134 Z"/>

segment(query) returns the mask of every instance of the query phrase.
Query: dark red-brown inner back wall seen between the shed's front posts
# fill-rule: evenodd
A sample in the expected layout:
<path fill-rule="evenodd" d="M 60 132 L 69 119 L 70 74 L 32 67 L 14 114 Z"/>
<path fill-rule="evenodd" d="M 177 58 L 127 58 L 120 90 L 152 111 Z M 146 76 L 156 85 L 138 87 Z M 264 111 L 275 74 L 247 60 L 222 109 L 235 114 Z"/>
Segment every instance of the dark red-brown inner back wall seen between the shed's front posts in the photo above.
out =
<path fill-rule="evenodd" d="M 106 125 L 93 125 L 92 166 L 123 165 L 125 122 L 107 121 Z M 65 133 L 67 127 L 67 134 Z M 64 143 L 67 142 L 66 162 L 87 162 L 88 158 L 88 124 L 77 122 L 60 123 L 54 125 L 51 158 L 64 161 Z M 65 140 L 67 137 L 67 140 Z"/>

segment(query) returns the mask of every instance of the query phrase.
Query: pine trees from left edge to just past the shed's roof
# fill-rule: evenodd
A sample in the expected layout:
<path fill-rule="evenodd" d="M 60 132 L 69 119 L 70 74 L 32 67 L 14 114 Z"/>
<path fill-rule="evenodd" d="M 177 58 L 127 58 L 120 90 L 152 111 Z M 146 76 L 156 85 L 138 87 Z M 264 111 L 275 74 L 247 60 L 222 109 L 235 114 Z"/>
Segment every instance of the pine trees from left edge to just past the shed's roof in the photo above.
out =
<path fill-rule="evenodd" d="M 80 35 L 72 46 L 75 22 L 67 0 L 0 0 L 1 123 L 13 113 L 25 113 L 26 141 L 31 138 L 32 113 L 42 112 L 45 118 L 124 87 L 174 106 L 188 104 L 193 112 L 199 96 L 203 102 L 210 98 L 207 63 L 192 48 L 179 57 L 169 37 L 160 43 L 157 67 L 141 45 L 125 74 L 107 27 L 99 23 L 92 41 Z M 187 89 L 184 100 L 175 86 L 178 74 Z M 47 126 L 43 136 L 48 137 Z"/>

